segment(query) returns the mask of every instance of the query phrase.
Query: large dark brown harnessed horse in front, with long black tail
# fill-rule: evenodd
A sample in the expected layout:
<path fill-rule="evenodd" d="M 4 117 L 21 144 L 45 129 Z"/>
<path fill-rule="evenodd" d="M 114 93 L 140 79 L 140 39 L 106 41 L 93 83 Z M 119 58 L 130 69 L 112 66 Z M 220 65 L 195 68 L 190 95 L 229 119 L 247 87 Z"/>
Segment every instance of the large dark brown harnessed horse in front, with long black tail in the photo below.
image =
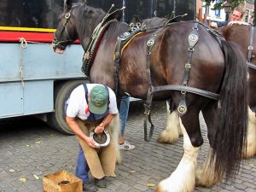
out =
<path fill-rule="evenodd" d="M 62 53 L 76 38 L 86 51 L 101 31 L 93 45 L 95 54 L 84 56 L 92 60 L 92 83 L 108 84 L 113 90 L 119 85 L 120 94 L 127 92 L 144 100 L 150 96 L 148 90 L 153 90 L 154 100 L 171 99 L 172 108 L 181 107 L 180 113 L 187 109 L 179 117 L 183 159 L 156 191 L 194 189 L 196 158 L 203 143 L 200 111 L 207 121 L 212 146 L 209 172 L 218 179 L 233 176 L 240 165 L 247 130 L 247 69 L 236 44 L 218 41 L 197 22 L 181 22 L 138 33 L 126 44 L 117 66 L 113 61 L 115 44 L 119 35 L 129 30 L 127 24 L 116 20 L 119 12 L 106 16 L 102 9 L 84 3 L 66 3 L 55 32 L 55 52 Z M 204 173 L 210 176 L 209 172 Z"/>

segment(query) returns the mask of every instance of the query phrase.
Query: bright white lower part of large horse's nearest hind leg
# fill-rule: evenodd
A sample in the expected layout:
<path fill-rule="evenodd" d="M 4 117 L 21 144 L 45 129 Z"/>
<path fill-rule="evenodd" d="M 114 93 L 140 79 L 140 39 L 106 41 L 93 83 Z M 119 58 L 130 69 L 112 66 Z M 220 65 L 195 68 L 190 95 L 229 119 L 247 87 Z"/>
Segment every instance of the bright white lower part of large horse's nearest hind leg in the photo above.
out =
<path fill-rule="evenodd" d="M 195 166 L 200 148 L 193 147 L 181 119 L 179 122 L 183 131 L 183 158 L 172 175 L 158 184 L 156 192 L 190 192 L 195 188 Z"/>

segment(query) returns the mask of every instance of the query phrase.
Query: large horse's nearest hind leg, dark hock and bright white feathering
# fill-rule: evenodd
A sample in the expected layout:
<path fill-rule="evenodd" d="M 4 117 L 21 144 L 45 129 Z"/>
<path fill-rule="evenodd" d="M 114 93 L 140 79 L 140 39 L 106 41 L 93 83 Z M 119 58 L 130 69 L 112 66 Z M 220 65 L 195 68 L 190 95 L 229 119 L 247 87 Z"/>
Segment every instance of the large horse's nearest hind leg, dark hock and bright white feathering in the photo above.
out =
<path fill-rule="evenodd" d="M 189 111 L 190 112 L 190 111 Z M 155 190 L 156 192 L 190 192 L 195 188 L 195 167 L 196 158 L 199 153 L 200 145 L 202 144 L 202 137 L 199 125 L 198 112 L 185 114 L 187 119 L 184 119 L 184 125 L 188 128 L 190 137 L 186 131 L 181 118 L 179 122 L 183 131 L 183 148 L 184 154 L 182 160 L 179 162 L 176 170 L 172 172 L 172 175 L 162 180 Z M 184 116 L 185 116 L 184 115 Z M 195 146 L 192 145 L 192 143 Z"/>

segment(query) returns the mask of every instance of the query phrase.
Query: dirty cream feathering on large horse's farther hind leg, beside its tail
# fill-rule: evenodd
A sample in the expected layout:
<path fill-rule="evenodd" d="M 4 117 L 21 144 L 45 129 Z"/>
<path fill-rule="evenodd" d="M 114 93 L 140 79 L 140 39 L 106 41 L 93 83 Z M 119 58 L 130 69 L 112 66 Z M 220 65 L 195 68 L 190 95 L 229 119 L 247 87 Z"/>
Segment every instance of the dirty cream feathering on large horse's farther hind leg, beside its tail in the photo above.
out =
<path fill-rule="evenodd" d="M 212 186 L 222 179 L 222 174 L 214 174 L 214 160 L 212 159 L 212 148 L 210 148 L 207 159 L 203 165 L 195 171 L 195 185 L 196 186 Z"/>

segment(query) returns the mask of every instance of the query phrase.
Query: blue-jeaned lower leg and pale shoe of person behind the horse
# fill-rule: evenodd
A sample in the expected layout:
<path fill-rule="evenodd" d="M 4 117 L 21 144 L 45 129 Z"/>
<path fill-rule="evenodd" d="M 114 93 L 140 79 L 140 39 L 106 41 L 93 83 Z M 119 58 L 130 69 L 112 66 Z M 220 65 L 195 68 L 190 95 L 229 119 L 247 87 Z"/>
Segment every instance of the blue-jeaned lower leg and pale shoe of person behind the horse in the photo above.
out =
<path fill-rule="evenodd" d="M 120 116 L 120 135 L 119 135 L 119 149 L 121 150 L 132 150 L 135 148 L 127 140 L 125 140 L 125 125 L 128 118 L 130 105 L 130 96 L 123 96 L 120 102 L 119 116 Z"/>

